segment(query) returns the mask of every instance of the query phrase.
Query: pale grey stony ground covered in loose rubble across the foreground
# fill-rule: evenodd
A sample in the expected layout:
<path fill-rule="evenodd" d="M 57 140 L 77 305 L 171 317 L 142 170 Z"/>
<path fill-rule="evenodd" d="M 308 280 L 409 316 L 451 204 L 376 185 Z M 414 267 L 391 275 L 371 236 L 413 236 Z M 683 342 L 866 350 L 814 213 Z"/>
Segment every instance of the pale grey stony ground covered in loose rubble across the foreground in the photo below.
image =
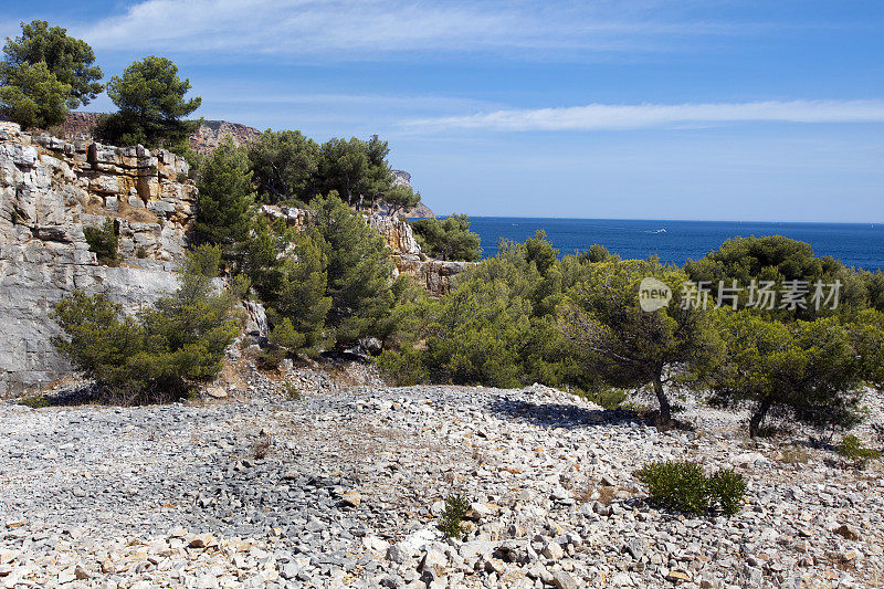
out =
<path fill-rule="evenodd" d="M 243 374 L 186 404 L 0 404 L 0 586 L 884 582 L 881 466 L 845 469 L 799 438 L 755 444 L 744 416 L 688 402 L 696 431 L 657 431 L 539 386 Z M 882 402 L 870 397 L 873 421 Z M 735 467 L 749 481 L 743 511 L 648 505 L 631 473 L 666 459 Z M 470 528 L 444 539 L 455 492 Z"/>

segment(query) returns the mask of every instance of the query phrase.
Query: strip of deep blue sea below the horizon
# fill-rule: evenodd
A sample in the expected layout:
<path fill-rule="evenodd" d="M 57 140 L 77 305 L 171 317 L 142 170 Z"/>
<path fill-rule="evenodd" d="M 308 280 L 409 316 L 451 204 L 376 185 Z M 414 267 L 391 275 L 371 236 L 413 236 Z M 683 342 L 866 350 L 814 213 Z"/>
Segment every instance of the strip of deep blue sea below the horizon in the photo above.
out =
<path fill-rule="evenodd" d="M 525 241 L 543 229 L 561 254 L 601 243 L 624 259 L 683 264 L 703 257 L 737 235 L 785 235 L 810 243 L 817 255 L 831 255 L 848 266 L 884 269 L 882 223 L 761 223 L 734 221 L 639 221 L 611 219 L 532 219 L 471 217 L 471 230 L 482 238 L 483 257 L 497 254 L 497 241 Z"/>

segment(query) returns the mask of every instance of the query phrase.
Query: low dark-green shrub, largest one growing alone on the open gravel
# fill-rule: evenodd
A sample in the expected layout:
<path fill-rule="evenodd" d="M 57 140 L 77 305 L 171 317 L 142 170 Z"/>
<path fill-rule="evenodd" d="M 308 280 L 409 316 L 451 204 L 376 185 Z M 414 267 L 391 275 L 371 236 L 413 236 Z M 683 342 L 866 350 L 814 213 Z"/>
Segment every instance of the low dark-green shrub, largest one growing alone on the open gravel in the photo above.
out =
<path fill-rule="evenodd" d="M 706 476 L 696 462 L 653 462 L 635 472 L 648 486 L 651 501 L 692 515 L 720 509 L 726 515 L 739 512 L 746 481 L 733 470 Z"/>

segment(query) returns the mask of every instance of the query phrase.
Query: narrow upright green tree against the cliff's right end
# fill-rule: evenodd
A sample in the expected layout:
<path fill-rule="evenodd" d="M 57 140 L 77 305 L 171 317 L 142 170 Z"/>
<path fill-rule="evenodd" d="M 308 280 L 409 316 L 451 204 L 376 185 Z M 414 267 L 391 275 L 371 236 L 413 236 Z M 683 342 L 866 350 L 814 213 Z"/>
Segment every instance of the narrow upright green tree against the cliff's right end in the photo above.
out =
<path fill-rule="evenodd" d="M 202 164 L 197 181 L 198 243 L 221 245 L 230 251 L 249 236 L 255 199 L 251 181 L 245 150 L 225 137 Z"/>

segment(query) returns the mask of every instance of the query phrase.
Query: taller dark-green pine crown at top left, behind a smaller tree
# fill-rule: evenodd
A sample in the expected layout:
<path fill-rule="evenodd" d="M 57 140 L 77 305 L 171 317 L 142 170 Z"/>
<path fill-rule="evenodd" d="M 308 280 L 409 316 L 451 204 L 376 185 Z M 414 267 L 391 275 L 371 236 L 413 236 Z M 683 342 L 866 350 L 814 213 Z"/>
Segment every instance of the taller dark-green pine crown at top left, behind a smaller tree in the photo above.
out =
<path fill-rule="evenodd" d="M 14 70 L 43 63 L 59 84 L 67 86 L 63 101 L 67 108 L 86 105 L 102 92 L 98 80 L 104 74 L 101 67 L 93 65 L 95 53 L 88 43 L 67 36 L 66 29 L 50 28 L 46 21 L 41 20 L 22 22 L 21 33 L 14 40 L 7 38 L 3 48 L 6 60 L 0 62 L 0 75 L 4 80 L 2 85 L 8 85 L 7 80 L 15 77 L 12 73 Z"/>

